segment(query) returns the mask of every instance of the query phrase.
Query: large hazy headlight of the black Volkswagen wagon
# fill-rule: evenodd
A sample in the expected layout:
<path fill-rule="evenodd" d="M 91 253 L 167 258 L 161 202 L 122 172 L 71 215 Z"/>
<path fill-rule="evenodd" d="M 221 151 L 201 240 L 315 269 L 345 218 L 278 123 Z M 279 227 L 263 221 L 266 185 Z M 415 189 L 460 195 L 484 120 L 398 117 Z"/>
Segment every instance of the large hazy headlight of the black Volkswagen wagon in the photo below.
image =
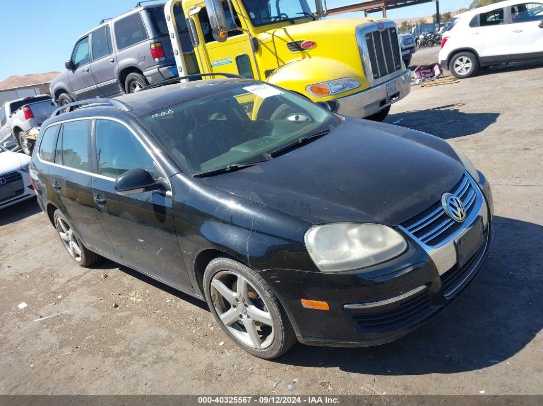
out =
<path fill-rule="evenodd" d="M 407 242 L 397 231 L 381 224 L 314 225 L 304 240 L 311 259 L 322 272 L 368 267 L 407 249 Z"/>

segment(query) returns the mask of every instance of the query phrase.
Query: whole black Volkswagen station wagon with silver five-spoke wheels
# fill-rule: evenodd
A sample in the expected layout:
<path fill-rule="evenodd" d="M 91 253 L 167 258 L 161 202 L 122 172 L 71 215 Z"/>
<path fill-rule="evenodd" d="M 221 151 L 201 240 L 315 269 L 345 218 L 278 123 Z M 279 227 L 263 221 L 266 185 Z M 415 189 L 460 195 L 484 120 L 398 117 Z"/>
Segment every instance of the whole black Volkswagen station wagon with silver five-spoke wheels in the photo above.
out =
<path fill-rule="evenodd" d="M 68 253 L 205 298 L 257 357 L 394 340 L 487 257 L 490 186 L 439 138 L 237 78 L 75 105 L 30 168 Z"/>

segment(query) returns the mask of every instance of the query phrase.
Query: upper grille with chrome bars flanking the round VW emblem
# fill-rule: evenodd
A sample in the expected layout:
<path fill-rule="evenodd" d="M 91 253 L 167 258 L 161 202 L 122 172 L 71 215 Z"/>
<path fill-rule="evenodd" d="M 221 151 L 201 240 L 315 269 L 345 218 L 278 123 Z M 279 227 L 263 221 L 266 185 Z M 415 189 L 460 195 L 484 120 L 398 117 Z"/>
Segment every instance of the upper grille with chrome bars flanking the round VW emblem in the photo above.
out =
<path fill-rule="evenodd" d="M 460 198 L 466 210 L 466 217 L 469 217 L 475 209 L 475 201 L 480 193 L 471 177 L 464 173 L 451 193 Z M 458 223 L 447 216 L 439 201 L 401 226 L 427 246 L 434 247 L 456 234 L 463 227 L 463 223 Z"/>

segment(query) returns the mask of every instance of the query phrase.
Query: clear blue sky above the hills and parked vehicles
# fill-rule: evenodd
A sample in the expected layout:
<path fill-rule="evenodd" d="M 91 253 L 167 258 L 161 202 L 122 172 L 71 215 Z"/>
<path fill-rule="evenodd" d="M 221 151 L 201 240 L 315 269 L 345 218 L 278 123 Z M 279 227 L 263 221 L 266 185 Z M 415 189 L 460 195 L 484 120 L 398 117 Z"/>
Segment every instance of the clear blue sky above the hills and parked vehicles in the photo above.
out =
<path fill-rule="evenodd" d="M 134 7 L 137 0 L 0 0 L 0 81 L 11 75 L 64 69 L 75 39 Z M 314 1 L 308 0 L 314 8 Z M 328 0 L 328 7 L 356 0 Z M 467 7 L 469 0 L 441 0 L 441 12 Z M 435 13 L 435 3 L 388 11 L 389 18 Z M 354 13 L 345 16 L 362 16 Z"/>

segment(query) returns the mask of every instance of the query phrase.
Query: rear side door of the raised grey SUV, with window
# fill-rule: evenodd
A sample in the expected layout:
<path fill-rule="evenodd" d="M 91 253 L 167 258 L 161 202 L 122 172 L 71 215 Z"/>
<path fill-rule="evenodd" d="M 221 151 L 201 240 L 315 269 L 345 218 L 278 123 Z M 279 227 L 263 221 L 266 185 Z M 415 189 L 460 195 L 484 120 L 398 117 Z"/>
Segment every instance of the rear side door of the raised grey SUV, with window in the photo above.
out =
<path fill-rule="evenodd" d="M 117 79 L 117 60 L 113 54 L 109 25 L 91 33 L 92 77 L 98 91 L 104 96 L 115 96 L 123 92 Z"/>

